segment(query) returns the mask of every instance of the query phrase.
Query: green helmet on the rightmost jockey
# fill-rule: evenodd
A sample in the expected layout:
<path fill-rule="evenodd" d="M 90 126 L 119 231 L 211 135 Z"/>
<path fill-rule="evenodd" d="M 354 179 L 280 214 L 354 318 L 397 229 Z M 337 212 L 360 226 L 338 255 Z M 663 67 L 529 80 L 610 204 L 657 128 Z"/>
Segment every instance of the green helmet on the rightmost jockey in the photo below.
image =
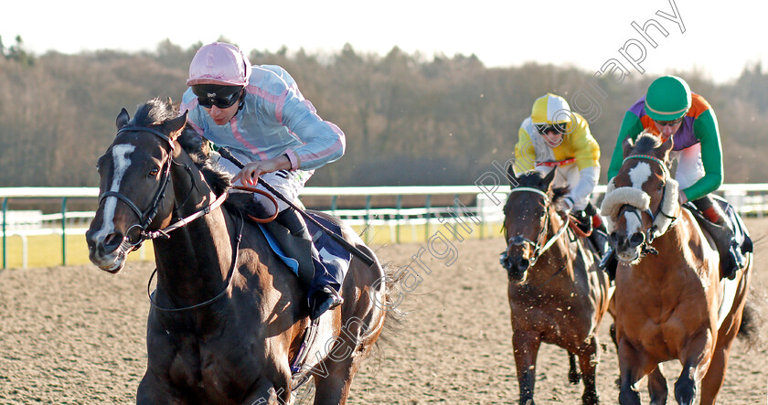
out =
<path fill-rule="evenodd" d="M 690 89 L 677 76 L 662 76 L 645 94 L 645 113 L 654 121 L 675 121 L 690 108 Z"/>

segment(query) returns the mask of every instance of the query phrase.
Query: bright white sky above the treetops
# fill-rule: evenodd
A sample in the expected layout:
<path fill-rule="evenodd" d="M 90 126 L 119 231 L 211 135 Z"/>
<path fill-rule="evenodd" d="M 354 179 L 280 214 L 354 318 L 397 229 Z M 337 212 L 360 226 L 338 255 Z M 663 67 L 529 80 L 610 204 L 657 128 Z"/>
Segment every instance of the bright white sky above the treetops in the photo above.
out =
<path fill-rule="evenodd" d="M 768 60 L 763 43 L 768 37 L 763 28 L 765 6 L 757 10 L 757 2 L 40 3 L 9 0 L 0 5 L 0 36 L 6 47 L 16 35 L 37 55 L 48 50 L 154 50 L 165 39 L 187 48 L 223 36 L 246 51 L 274 51 L 284 45 L 289 51 L 332 53 L 349 43 L 359 52 L 379 55 L 398 46 L 411 54 L 418 51 L 426 59 L 434 54 L 474 53 L 488 67 L 537 60 L 597 71 L 616 59 L 632 74 L 698 69 L 720 83 L 737 78 L 747 64 Z M 638 32 L 643 27 L 646 34 Z"/>

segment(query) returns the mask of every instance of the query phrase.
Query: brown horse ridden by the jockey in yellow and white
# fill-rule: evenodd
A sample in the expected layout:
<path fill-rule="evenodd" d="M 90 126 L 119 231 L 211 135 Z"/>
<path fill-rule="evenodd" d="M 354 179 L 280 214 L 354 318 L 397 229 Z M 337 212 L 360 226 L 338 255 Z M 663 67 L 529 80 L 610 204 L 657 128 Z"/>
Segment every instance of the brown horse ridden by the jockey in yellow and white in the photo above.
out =
<path fill-rule="evenodd" d="M 585 404 L 598 402 L 595 371 L 597 328 L 608 310 L 608 276 L 597 267 L 593 250 L 568 229 L 554 202 L 566 190 L 551 187 L 555 170 L 515 176 L 504 207 L 507 250 L 502 265 L 509 279 L 512 346 L 515 349 L 520 404 L 533 404 L 536 357 L 541 342 L 565 348 L 571 359 L 571 383 L 578 383 L 579 357 Z"/>

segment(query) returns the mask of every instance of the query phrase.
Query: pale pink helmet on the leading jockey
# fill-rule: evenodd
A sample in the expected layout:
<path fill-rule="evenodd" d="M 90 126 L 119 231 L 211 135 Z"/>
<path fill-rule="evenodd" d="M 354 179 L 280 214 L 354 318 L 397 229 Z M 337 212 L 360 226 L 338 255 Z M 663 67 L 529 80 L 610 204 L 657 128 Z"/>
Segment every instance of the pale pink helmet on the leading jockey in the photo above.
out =
<path fill-rule="evenodd" d="M 214 42 L 197 49 L 195 58 L 189 64 L 187 86 L 245 86 L 250 77 L 251 61 L 240 48 L 225 42 Z"/>

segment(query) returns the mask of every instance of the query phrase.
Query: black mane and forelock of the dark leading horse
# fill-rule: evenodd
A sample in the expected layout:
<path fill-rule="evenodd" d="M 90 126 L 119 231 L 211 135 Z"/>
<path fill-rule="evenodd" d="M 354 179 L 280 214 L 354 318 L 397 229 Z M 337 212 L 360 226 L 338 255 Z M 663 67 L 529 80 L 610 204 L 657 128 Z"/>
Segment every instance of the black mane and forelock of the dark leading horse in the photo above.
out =
<path fill-rule="evenodd" d="M 170 99 L 165 101 L 155 98 L 146 101 L 136 110 L 136 115 L 129 124 L 133 126 L 154 126 L 160 125 L 178 117 L 178 110 L 171 104 Z M 226 192 L 231 186 L 231 175 L 219 168 L 219 164 L 211 160 L 208 141 L 203 139 L 193 130 L 189 124 L 184 127 L 179 135 L 178 144 L 187 152 L 187 155 L 195 162 L 203 176 L 217 196 Z"/>

